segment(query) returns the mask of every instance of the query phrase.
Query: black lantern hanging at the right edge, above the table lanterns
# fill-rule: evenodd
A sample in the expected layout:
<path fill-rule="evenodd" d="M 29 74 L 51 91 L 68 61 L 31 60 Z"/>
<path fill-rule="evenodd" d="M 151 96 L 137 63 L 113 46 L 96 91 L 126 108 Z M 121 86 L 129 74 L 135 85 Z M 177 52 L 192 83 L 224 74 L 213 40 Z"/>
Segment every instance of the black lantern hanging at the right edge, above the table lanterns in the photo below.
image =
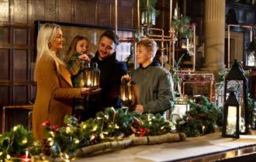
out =
<path fill-rule="evenodd" d="M 254 67 L 256 66 L 256 46 L 255 46 L 255 41 L 252 40 L 246 49 L 246 66 L 251 66 Z"/>

